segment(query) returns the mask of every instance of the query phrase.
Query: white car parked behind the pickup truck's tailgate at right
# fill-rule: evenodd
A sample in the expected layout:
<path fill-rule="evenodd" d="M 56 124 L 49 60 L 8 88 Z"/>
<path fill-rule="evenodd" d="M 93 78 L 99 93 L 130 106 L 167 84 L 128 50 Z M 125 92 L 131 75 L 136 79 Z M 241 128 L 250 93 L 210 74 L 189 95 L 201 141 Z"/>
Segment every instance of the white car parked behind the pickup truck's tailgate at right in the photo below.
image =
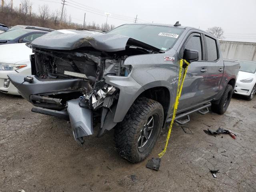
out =
<path fill-rule="evenodd" d="M 256 92 L 256 61 L 238 61 L 240 62 L 240 70 L 234 93 L 244 95 L 250 101 Z"/>

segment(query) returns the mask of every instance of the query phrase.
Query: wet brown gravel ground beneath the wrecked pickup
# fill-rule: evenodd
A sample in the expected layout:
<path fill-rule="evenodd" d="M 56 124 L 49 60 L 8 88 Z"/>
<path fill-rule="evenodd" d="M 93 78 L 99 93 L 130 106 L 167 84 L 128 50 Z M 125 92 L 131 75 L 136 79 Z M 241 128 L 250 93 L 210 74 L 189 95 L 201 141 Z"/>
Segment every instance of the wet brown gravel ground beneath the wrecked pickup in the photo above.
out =
<path fill-rule="evenodd" d="M 174 125 L 159 171 L 146 162 L 132 164 L 114 149 L 113 131 L 96 134 L 79 147 L 64 120 L 31 112 L 19 96 L 0 93 L 0 192 L 100 191 L 256 191 L 256 98 L 233 96 L 227 112 L 194 113 L 184 125 Z M 216 137 L 204 129 L 235 132 Z M 149 158 L 157 157 L 166 139 L 162 134 Z M 209 170 L 219 170 L 213 178 Z M 135 174 L 138 182 L 132 182 Z"/>

